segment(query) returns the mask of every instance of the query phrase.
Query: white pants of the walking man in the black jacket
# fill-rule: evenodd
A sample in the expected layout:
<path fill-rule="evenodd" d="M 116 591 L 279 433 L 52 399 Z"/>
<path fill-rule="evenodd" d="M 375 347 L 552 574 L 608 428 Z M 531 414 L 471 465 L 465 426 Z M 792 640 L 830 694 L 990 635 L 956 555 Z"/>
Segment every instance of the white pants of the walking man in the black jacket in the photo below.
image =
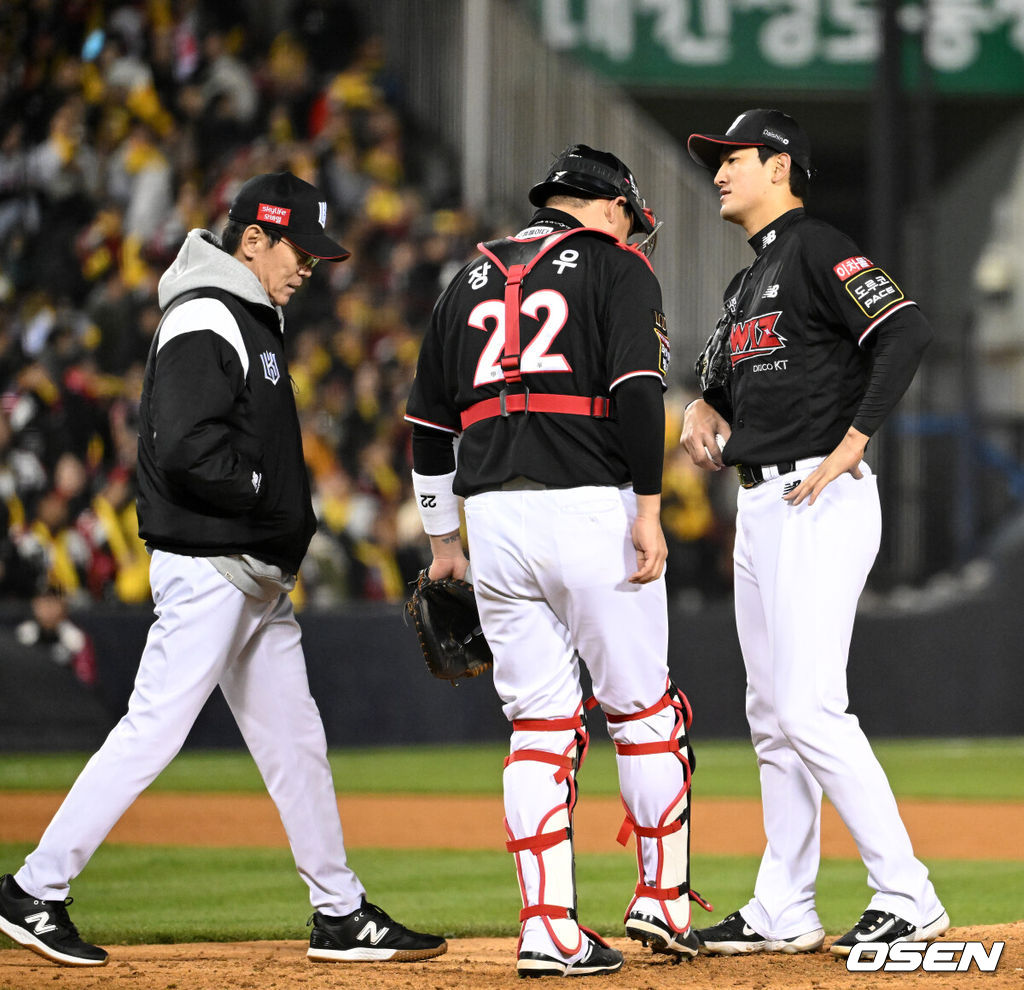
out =
<path fill-rule="evenodd" d="M 159 550 L 150 578 L 157 620 L 128 712 L 82 770 L 17 884 L 42 900 L 67 897 L 118 819 L 181 748 L 219 685 L 281 814 L 311 904 L 333 915 L 355 910 L 364 888 L 346 863 L 291 600 L 259 601 L 208 560 Z"/>

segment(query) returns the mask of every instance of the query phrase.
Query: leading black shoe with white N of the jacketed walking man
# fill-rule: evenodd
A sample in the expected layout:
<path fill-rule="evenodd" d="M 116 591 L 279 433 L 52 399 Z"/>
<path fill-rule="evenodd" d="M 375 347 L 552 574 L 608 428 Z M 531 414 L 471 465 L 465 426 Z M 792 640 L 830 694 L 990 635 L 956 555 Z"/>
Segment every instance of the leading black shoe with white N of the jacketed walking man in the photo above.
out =
<path fill-rule="evenodd" d="M 447 952 L 439 935 L 413 932 L 367 900 L 342 917 L 314 911 L 306 924 L 306 956 L 316 962 L 415 962 Z"/>

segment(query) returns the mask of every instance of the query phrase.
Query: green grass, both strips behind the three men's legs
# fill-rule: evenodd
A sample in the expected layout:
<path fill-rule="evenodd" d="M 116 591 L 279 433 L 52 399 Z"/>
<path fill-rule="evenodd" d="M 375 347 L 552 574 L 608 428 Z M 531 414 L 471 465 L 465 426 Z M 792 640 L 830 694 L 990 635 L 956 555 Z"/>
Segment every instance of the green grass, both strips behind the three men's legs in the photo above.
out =
<path fill-rule="evenodd" d="M 899 740 L 879 742 L 876 749 L 898 797 L 1024 801 L 1024 738 Z M 495 744 L 346 750 L 332 752 L 332 763 L 342 793 L 498 794 L 504 752 Z M 4 791 L 67 789 L 87 756 L 0 755 L 0 815 Z M 749 743 L 698 744 L 697 761 L 695 800 L 757 795 Z M 581 801 L 617 793 L 606 741 L 593 747 L 581 783 Z M 247 754 L 185 751 L 153 789 L 238 792 L 259 791 L 262 784 Z M 0 872 L 16 868 L 31 848 L 0 843 Z M 518 890 L 504 851 L 355 849 L 349 858 L 371 900 L 407 924 L 452 936 L 517 931 Z M 1024 862 L 928 865 L 954 926 L 1024 918 Z M 757 857 L 695 857 L 693 886 L 716 906 L 710 915 L 697 909 L 697 923 L 741 905 L 756 870 Z M 585 923 L 621 933 L 635 871 L 632 850 L 578 857 Z M 310 913 L 287 850 L 103 846 L 75 881 L 74 894 L 76 923 L 101 944 L 303 938 Z M 868 897 L 859 862 L 822 863 L 818 906 L 829 932 L 856 920 Z"/>

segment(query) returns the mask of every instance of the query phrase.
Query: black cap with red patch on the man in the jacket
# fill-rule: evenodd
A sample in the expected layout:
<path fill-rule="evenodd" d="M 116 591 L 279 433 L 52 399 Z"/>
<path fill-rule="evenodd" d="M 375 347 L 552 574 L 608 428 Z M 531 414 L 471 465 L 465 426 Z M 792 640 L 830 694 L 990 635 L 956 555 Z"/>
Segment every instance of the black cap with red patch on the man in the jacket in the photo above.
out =
<path fill-rule="evenodd" d="M 324 232 L 327 201 L 316 186 L 291 172 L 268 172 L 249 179 L 239 189 L 227 215 L 279 233 L 314 258 L 344 261 L 351 255 Z"/>

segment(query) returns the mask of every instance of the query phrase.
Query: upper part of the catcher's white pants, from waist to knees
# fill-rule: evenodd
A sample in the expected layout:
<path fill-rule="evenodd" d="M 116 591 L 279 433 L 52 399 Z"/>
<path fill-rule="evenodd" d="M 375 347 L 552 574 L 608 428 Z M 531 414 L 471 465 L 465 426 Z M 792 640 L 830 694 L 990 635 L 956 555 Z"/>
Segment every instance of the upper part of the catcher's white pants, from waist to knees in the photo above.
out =
<path fill-rule="evenodd" d="M 665 694 L 665 577 L 629 583 L 635 518 L 631 488 L 487 491 L 466 500 L 473 584 L 510 722 L 575 711 L 583 698 L 577 651 L 607 712 L 638 712 Z"/>

